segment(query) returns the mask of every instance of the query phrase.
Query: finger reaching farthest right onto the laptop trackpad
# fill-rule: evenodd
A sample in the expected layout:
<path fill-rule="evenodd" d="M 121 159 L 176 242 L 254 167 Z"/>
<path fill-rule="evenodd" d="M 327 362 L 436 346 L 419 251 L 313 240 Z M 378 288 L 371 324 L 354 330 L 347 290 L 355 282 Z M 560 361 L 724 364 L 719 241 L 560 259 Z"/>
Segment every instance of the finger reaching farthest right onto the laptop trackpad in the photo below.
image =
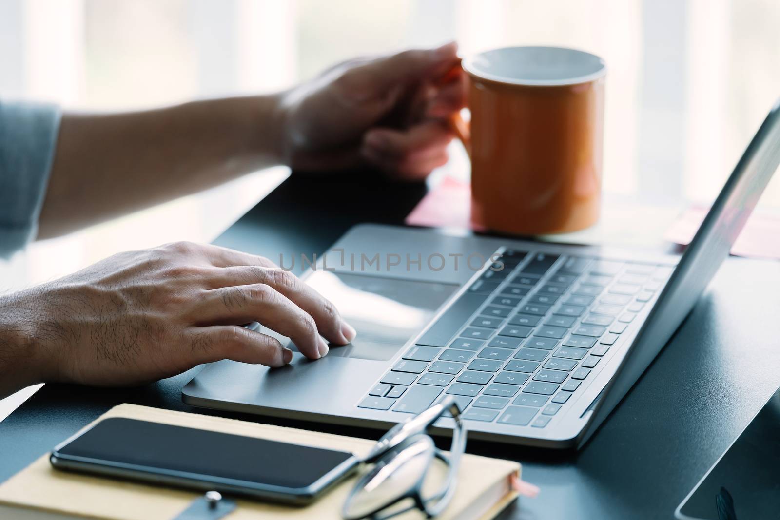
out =
<path fill-rule="evenodd" d="M 337 345 L 346 345 L 355 337 L 355 330 L 342 320 L 332 302 L 306 285 L 295 274 L 284 271 L 280 267 L 216 267 L 209 273 L 208 281 L 211 288 L 232 285 L 270 285 L 313 317 L 317 330 L 328 341 Z"/>

